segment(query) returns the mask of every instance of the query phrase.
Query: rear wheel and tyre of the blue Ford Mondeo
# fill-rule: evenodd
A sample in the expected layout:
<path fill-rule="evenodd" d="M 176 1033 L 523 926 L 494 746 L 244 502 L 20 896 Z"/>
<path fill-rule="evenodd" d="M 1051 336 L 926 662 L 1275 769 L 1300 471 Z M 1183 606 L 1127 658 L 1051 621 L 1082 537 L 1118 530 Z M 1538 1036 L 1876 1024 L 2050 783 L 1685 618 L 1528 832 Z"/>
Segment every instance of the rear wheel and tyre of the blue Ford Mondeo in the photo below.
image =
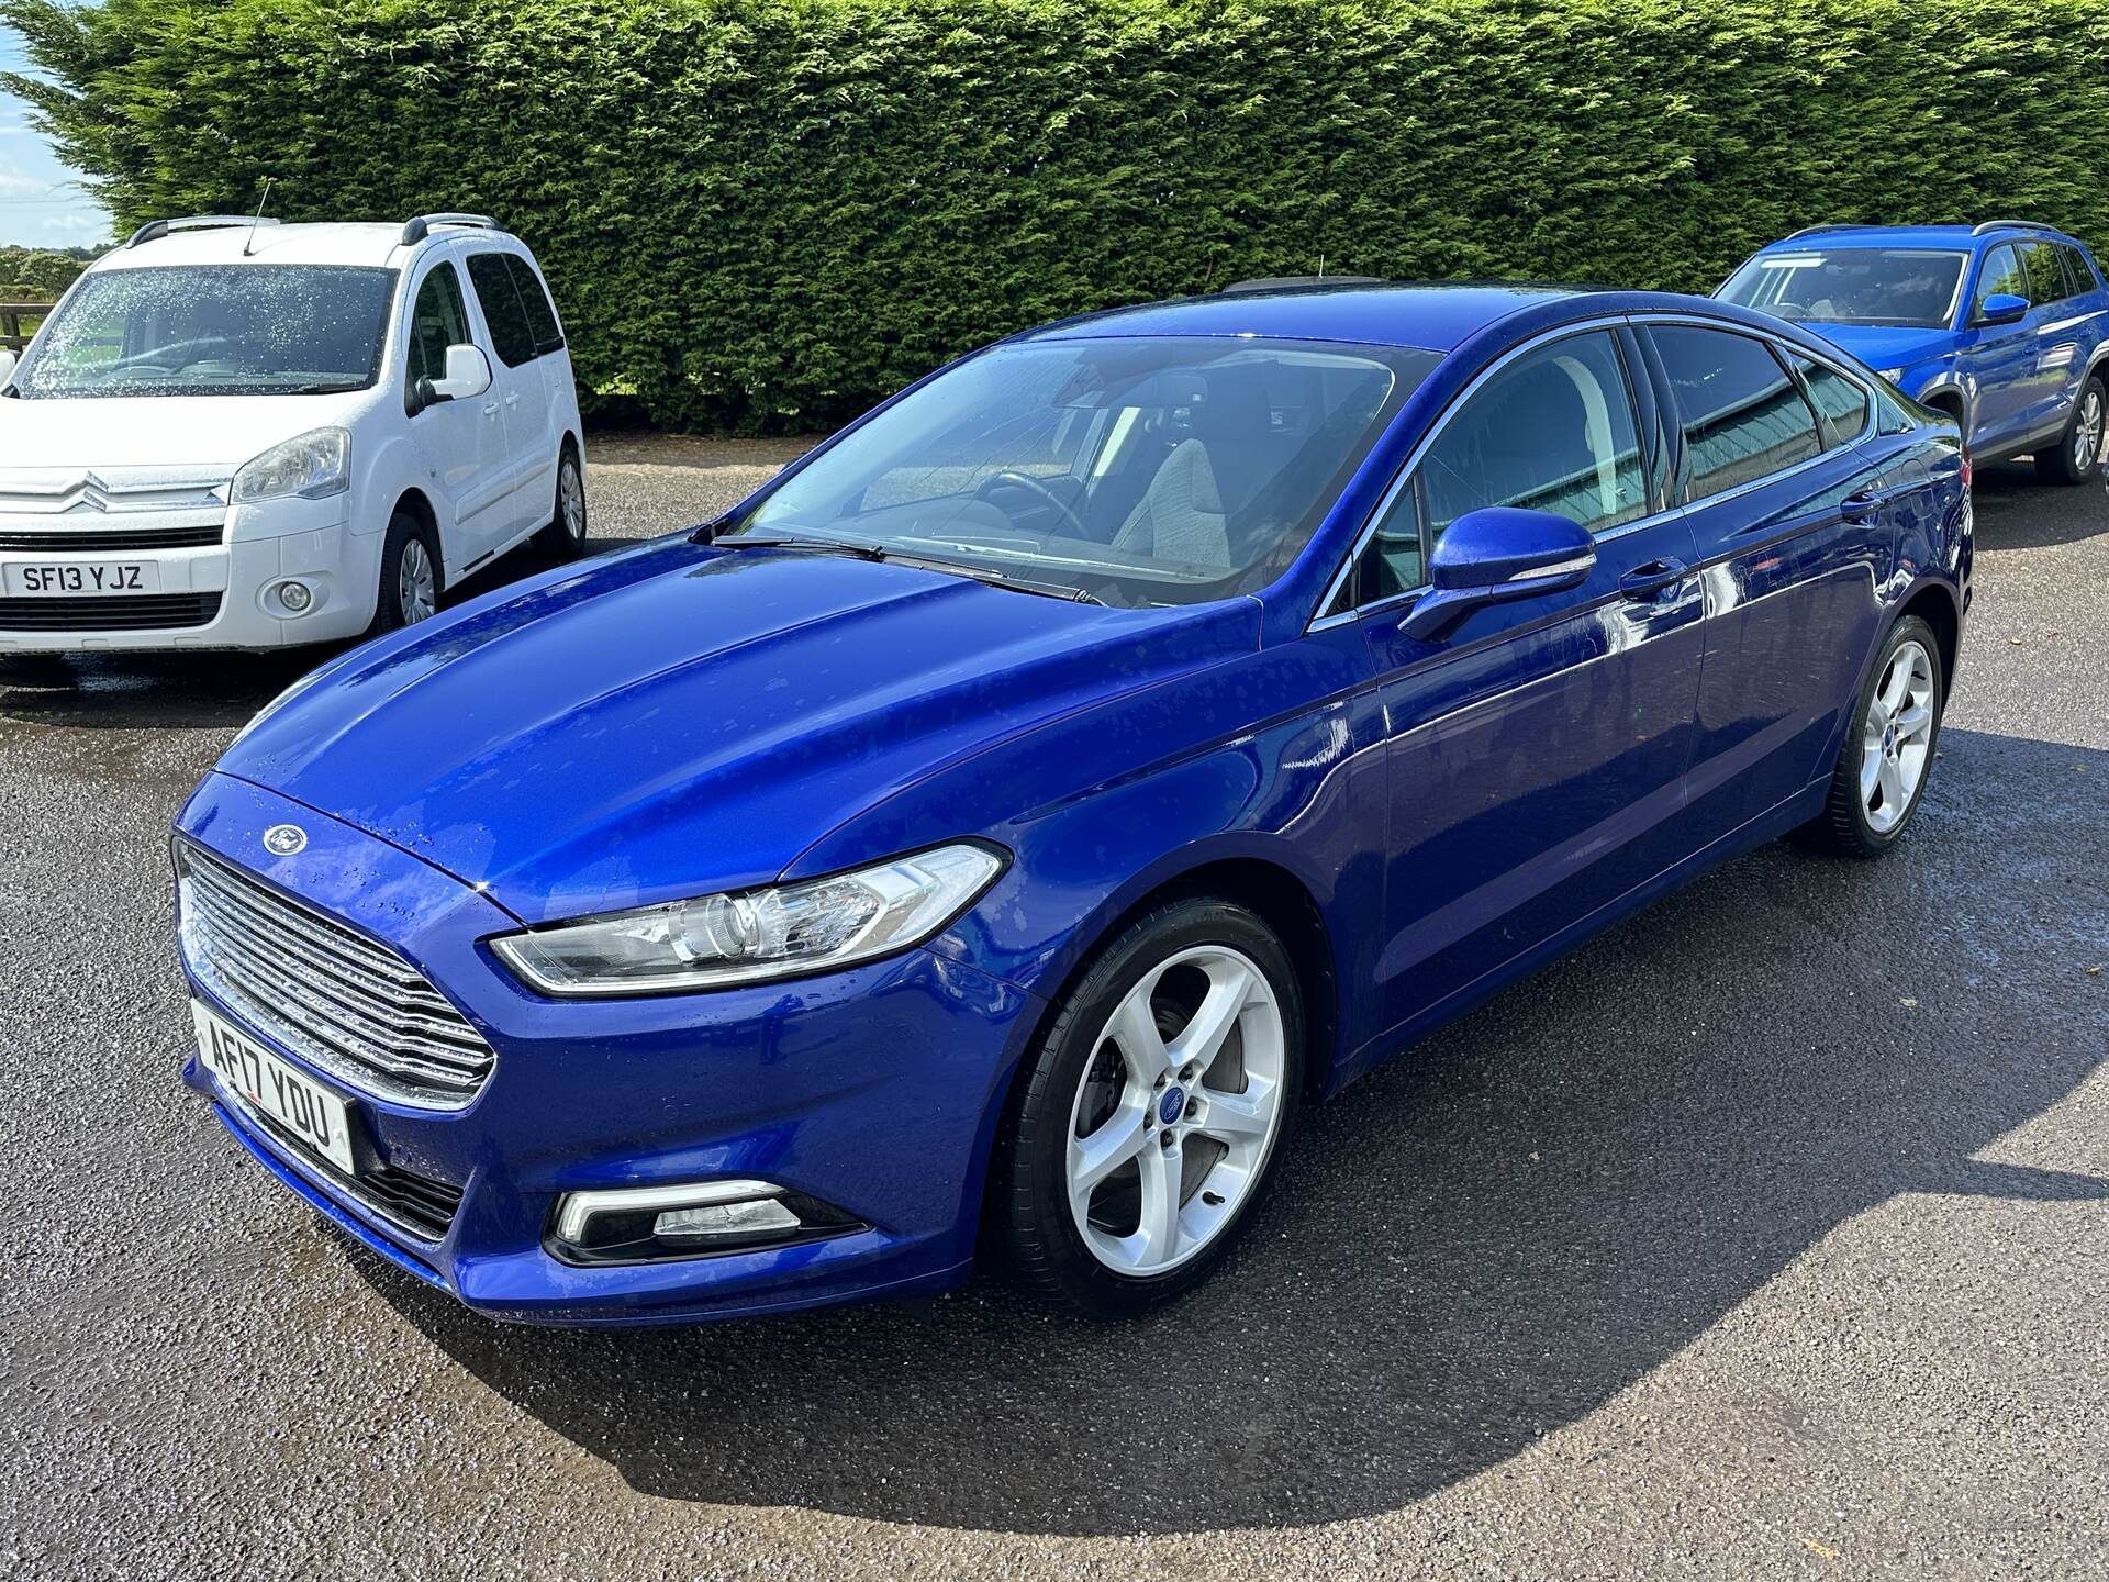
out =
<path fill-rule="evenodd" d="M 1860 688 L 1831 799 L 1805 829 L 1814 844 L 1841 856 L 1881 856 L 1896 846 L 1934 768 L 1942 688 L 1934 629 L 1904 616 Z"/>

